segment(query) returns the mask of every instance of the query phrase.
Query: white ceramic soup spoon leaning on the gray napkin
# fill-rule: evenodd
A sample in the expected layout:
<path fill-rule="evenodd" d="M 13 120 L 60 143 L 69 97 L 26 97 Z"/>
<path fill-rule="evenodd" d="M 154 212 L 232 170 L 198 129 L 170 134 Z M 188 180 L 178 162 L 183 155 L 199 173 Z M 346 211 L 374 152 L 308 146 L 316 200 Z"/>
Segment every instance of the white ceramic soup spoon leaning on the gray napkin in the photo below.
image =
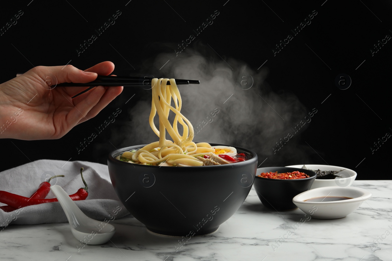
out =
<path fill-rule="evenodd" d="M 59 185 L 51 186 L 51 191 L 60 202 L 76 239 L 85 244 L 100 245 L 112 238 L 116 227 L 86 216 Z"/>

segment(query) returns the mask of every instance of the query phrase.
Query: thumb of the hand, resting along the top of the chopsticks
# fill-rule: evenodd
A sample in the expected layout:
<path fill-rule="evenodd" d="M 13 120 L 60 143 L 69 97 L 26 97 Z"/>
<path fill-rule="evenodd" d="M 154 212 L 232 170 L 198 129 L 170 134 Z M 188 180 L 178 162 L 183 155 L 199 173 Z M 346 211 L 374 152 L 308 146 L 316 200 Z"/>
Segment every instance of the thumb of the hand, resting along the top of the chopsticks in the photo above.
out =
<path fill-rule="evenodd" d="M 26 72 L 26 74 L 35 74 L 48 85 L 56 85 L 56 83 L 88 83 L 94 81 L 98 76 L 95 72 L 85 72 L 72 65 L 37 66 Z"/>

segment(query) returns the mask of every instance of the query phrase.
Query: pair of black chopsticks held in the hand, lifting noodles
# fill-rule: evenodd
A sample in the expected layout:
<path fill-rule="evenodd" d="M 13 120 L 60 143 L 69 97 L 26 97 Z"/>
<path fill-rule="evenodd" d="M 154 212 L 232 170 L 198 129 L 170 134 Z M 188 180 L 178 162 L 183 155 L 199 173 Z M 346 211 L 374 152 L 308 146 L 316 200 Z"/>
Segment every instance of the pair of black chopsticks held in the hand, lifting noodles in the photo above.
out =
<path fill-rule="evenodd" d="M 151 86 L 150 77 L 133 77 L 133 76 L 98 76 L 94 81 L 89 83 L 59 83 L 58 87 L 74 87 L 74 86 Z M 175 79 L 177 85 L 200 84 L 198 80 Z M 170 82 L 167 81 L 167 85 Z"/>

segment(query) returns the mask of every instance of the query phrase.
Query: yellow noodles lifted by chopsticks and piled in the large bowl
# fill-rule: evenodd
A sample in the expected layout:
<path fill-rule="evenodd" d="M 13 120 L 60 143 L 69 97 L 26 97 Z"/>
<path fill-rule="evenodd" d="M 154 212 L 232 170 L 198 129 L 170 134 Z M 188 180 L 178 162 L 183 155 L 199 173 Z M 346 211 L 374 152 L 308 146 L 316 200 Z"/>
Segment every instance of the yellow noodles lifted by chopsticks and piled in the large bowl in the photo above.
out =
<path fill-rule="evenodd" d="M 170 85 L 167 85 L 167 81 Z M 158 165 L 161 162 L 167 164 L 184 164 L 187 166 L 203 166 L 203 162 L 197 156 L 212 155 L 215 149 L 207 142 L 194 143 L 194 131 L 191 122 L 181 114 L 181 95 L 174 79 L 151 80 L 152 101 L 149 123 L 152 131 L 159 137 L 159 141 L 152 142 L 136 151 L 126 151 L 122 157 L 131 162 L 145 165 Z M 174 106 L 171 106 L 172 100 Z M 169 122 L 169 113 L 175 114 L 174 122 Z M 159 130 L 154 124 L 154 117 L 158 114 Z M 178 131 L 178 123 L 181 124 L 182 135 Z M 166 131 L 173 141 L 166 139 Z M 169 165 L 170 166 L 170 165 Z"/>

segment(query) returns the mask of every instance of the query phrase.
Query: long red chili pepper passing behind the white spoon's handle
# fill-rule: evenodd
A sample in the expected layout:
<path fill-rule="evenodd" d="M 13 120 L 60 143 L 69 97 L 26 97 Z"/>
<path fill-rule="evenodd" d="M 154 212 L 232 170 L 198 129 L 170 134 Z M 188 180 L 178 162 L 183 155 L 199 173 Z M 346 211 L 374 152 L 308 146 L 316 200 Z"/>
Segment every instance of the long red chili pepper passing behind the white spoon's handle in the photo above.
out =
<path fill-rule="evenodd" d="M 83 178 L 82 174 L 83 167 L 80 169 L 80 175 L 82 176 L 83 184 L 85 187 L 78 189 L 78 191 L 72 195 L 69 195 L 72 200 L 85 200 L 88 196 L 87 184 Z M 0 191 L 0 202 L 5 203 L 11 207 L 20 208 L 27 207 L 30 205 L 38 205 L 41 203 L 57 202 L 57 198 L 27 198 L 24 196 L 19 196 L 7 191 Z"/>

